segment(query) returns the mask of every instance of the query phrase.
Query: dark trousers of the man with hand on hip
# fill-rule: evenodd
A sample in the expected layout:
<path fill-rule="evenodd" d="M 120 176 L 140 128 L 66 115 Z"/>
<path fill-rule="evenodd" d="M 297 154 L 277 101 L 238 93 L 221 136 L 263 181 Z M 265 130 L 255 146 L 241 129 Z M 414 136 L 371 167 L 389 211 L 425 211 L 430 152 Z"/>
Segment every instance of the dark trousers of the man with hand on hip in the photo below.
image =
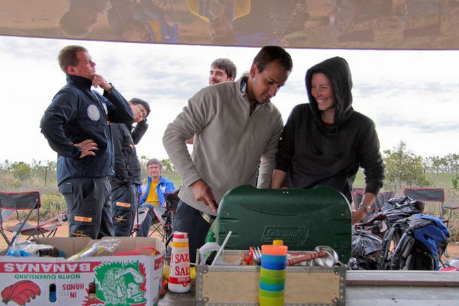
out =
<path fill-rule="evenodd" d="M 113 236 L 107 177 L 72 177 L 59 186 L 69 211 L 69 237 Z"/>

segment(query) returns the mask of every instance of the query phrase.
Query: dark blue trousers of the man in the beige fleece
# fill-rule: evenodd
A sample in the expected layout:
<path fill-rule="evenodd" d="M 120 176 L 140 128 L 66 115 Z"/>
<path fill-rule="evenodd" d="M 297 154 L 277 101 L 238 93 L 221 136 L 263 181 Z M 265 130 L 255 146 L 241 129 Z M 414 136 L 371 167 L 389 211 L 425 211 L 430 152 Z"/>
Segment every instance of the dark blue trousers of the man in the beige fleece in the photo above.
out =
<path fill-rule="evenodd" d="M 190 246 L 190 262 L 196 262 L 196 251 L 206 243 L 206 235 L 213 222 L 206 221 L 201 211 L 191 207 L 180 200 L 175 212 L 173 231 L 188 233 L 188 244 Z"/>

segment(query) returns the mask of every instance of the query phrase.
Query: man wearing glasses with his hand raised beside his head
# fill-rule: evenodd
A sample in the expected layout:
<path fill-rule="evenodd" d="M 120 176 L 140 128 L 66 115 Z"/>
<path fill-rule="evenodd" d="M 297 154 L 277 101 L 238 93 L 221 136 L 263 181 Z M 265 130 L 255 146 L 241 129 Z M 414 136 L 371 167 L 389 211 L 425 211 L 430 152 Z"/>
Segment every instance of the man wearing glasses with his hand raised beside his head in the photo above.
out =
<path fill-rule="evenodd" d="M 137 188 L 140 185 L 140 162 L 137 159 L 136 144 L 148 129 L 147 116 L 150 106 L 146 101 L 132 98 L 129 106 L 134 114 L 136 126 L 112 123 L 114 170 L 110 177 L 112 185 L 112 220 L 115 236 L 129 236 L 136 213 Z"/>

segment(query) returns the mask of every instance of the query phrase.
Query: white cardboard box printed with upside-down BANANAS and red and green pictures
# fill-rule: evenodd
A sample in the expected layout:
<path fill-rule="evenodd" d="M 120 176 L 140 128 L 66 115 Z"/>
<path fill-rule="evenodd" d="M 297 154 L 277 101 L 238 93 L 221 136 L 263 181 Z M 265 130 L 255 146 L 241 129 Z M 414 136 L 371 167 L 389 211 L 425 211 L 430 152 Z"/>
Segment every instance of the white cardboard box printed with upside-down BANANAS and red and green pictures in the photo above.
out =
<path fill-rule="evenodd" d="M 66 262 L 63 257 L 0 256 L 0 294 L 5 305 L 157 305 L 164 267 L 164 244 L 154 238 L 119 238 L 114 253 L 153 246 L 155 256 L 95 257 Z M 90 238 L 38 238 L 64 256 L 92 246 Z M 5 251 L 2 252 L 5 254 Z M 14 303 L 10 303 L 14 302 Z"/>

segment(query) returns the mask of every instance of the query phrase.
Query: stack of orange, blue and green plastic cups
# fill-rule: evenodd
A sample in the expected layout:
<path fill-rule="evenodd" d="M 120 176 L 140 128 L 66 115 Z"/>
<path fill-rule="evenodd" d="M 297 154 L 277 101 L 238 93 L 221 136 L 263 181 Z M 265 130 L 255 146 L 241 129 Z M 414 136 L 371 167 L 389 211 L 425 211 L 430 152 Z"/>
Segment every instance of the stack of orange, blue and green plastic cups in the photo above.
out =
<path fill-rule="evenodd" d="M 262 246 L 260 270 L 260 306 L 284 305 L 285 268 L 287 246 L 266 244 Z"/>

